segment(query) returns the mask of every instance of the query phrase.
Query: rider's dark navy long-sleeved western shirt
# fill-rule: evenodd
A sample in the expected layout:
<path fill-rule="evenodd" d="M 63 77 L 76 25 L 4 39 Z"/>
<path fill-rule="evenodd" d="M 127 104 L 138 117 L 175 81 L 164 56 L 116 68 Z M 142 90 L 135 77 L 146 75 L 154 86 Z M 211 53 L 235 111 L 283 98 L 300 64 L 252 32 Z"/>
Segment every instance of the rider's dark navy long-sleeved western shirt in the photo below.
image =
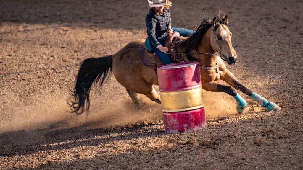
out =
<path fill-rule="evenodd" d="M 158 38 L 166 35 L 167 27 L 171 26 L 171 15 L 169 8 L 163 11 L 163 14 L 155 15 L 151 11 L 148 11 L 145 17 L 145 23 L 147 27 L 147 35 L 151 45 L 157 47 L 160 45 Z"/>

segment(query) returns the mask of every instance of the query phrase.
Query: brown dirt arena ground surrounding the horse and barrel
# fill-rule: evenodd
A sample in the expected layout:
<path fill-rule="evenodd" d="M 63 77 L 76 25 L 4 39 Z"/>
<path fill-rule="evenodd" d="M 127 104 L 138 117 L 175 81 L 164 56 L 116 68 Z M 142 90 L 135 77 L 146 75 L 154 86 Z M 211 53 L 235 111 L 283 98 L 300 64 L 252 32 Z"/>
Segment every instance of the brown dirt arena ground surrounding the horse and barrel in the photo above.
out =
<path fill-rule="evenodd" d="M 148 3 L 0 0 L 0 169 L 303 169 L 303 1 L 172 0 L 173 27 L 194 29 L 221 9 L 249 96 L 245 114 L 204 93 L 207 129 L 166 134 L 161 106 L 136 109 L 112 76 L 91 110 L 68 113 L 82 60 L 146 38 Z"/>

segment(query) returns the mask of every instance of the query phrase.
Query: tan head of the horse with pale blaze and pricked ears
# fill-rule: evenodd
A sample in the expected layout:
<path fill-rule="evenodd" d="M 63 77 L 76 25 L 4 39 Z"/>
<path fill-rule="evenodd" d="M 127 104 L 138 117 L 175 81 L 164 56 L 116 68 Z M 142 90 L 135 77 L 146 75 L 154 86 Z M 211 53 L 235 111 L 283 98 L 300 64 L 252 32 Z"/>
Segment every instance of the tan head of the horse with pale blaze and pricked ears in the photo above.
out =
<path fill-rule="evenodd" d="M 237 61 L 237 54 L 231 45 L 231 32 L 227 28 L 228 16 L 226 15 L 221 21 L 215 17 L 212 21 L 213 31 L 210 36 L 211 48 L 221 53 L 226 62 L 233 65 Z M 221 51 L 220 51 L 221 50 Z"/>

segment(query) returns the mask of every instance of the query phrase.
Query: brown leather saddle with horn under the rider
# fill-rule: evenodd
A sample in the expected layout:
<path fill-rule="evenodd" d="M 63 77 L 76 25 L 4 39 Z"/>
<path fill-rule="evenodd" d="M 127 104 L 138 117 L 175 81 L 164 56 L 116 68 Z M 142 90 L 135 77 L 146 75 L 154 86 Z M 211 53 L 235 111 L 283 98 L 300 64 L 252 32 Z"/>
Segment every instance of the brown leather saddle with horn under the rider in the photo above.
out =
<path fill-rule="evenodd" d="M 167 47 L 168 49 L 172 49 L 174 47 L 172 42 L 175 40 L 175 38 L 178 37 L 180 37 L 180 34 L 177 31 L 173 32 L 168 38 L 166 38 L 164 46 Z M 154 68 L 156 73 L 157 73 L 156 67 L 158 67 L 159 65 L 163 65 L 160 59 L 154 53 L 154 51 L 151 50 L 148 39 L 145 40 L 145 43 L 140 48 L 139 56 L 142 63 Z"/>

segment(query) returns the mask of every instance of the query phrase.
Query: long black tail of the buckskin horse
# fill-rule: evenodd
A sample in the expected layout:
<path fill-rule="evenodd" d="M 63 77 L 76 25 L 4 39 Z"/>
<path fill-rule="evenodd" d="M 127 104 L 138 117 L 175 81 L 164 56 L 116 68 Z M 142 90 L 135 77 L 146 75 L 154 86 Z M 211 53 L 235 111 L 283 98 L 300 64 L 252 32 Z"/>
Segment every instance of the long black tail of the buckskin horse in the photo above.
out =
<path fill-rule="evenodd" d="M 75 89 L 71 91 L 72 97 L 68 101 L 72 112 L 77 114 L 83 113 L 85 111 L 85 102 L 87 110 L 89 109 L 89 91 L 92 84 L 95 81 L 95 87 L 99 84 L 99 87 L 102 89 L 102 83 L 105 78 L 110 77 L 112 74 L 112 63 L 112 55 L 87 58 L 82 62 L 77 75 Z M 98 90 L 98 88 L 96 89 Z"/>

